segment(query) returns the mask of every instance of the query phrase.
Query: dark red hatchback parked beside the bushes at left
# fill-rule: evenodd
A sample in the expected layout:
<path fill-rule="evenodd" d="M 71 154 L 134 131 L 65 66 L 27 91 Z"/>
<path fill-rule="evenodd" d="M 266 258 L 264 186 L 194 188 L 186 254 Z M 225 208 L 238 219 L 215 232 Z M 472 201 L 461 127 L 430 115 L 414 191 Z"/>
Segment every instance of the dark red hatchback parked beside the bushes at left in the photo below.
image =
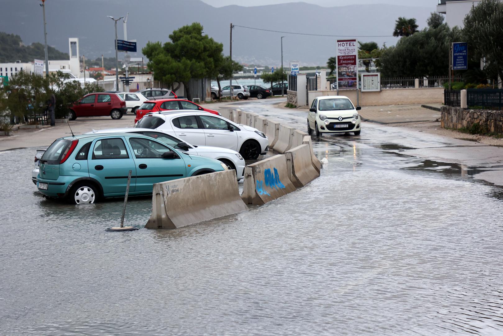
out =
<path fill-rule="evenodd" d="M 115 93 L 97 92 L 83 96 L 70 108 L 68 118 L 110 115 L 112 119 L 122 118 L 126 113 L 126 102 Z"/>

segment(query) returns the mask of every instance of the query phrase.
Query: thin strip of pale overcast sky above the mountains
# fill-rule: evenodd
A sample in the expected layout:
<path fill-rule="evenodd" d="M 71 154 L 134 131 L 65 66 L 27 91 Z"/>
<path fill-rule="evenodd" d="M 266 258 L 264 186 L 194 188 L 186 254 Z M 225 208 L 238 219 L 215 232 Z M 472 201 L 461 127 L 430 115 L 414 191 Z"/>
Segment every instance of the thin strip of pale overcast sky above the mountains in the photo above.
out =
<path fill-rule="evenodd" d="M 222 7 L 227 5 L 239 6 L 263 6 L 274 4 L 285 4 L 299 1 L 285 1 L 285 0 L 202 0 L 203 2 L 213 6 Z M 420 6 L 431 7 L 432 11 L 436 8 L 438 0 L 304 0 L 304 3 L 315 4 L 324 7 L 346 6 L 346 5 L 364 5 L 364 4 L 391 4 L 391 5 L 405 5 L 405 6 Z"/>

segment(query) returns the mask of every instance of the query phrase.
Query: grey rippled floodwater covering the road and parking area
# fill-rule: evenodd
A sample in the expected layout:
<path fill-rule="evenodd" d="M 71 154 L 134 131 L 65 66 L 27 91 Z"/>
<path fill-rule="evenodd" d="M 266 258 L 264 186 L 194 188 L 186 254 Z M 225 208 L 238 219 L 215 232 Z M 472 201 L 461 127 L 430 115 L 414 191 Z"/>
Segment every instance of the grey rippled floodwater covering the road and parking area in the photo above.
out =
<path fill-rule="evenodd" d="M 122 233 L 122 200 L 46 200 L 34 150 L 0 152 L 0 334 L 503 333 L 501 188 L 394 144 L 314 150 L 321 176 L 264 206 L 162 231 L 130 198 Z"/>

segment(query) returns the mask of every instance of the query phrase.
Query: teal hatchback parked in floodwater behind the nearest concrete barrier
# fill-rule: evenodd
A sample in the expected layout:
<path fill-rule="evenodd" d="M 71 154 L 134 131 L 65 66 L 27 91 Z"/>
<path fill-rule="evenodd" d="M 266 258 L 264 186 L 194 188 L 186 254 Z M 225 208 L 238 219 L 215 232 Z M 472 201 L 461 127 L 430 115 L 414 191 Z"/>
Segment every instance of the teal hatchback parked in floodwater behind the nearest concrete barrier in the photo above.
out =
<path fill-rule="evenodd" d="M 175 146 L 176 147 L 176 146 Z M 154 183 L 226 170 L 218 160 L 187 155 L 136 133 L 57 139 L 40 159 L 38 190 L 72 204 L 94 203 L 126 193 L 148 195 Z"/>

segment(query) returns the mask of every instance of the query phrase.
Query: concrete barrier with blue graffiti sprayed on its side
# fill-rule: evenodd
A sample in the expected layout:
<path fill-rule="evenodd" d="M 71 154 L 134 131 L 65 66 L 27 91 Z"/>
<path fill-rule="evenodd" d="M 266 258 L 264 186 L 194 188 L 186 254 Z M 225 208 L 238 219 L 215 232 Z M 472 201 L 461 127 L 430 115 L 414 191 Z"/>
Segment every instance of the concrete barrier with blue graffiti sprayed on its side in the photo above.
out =
<path fill-rule="evenodd" d="M 246 204 L 266 204 L 295 189 L 288 177 L 285 155 L 275 155 L 244 168 L 241 198 Z"/>

